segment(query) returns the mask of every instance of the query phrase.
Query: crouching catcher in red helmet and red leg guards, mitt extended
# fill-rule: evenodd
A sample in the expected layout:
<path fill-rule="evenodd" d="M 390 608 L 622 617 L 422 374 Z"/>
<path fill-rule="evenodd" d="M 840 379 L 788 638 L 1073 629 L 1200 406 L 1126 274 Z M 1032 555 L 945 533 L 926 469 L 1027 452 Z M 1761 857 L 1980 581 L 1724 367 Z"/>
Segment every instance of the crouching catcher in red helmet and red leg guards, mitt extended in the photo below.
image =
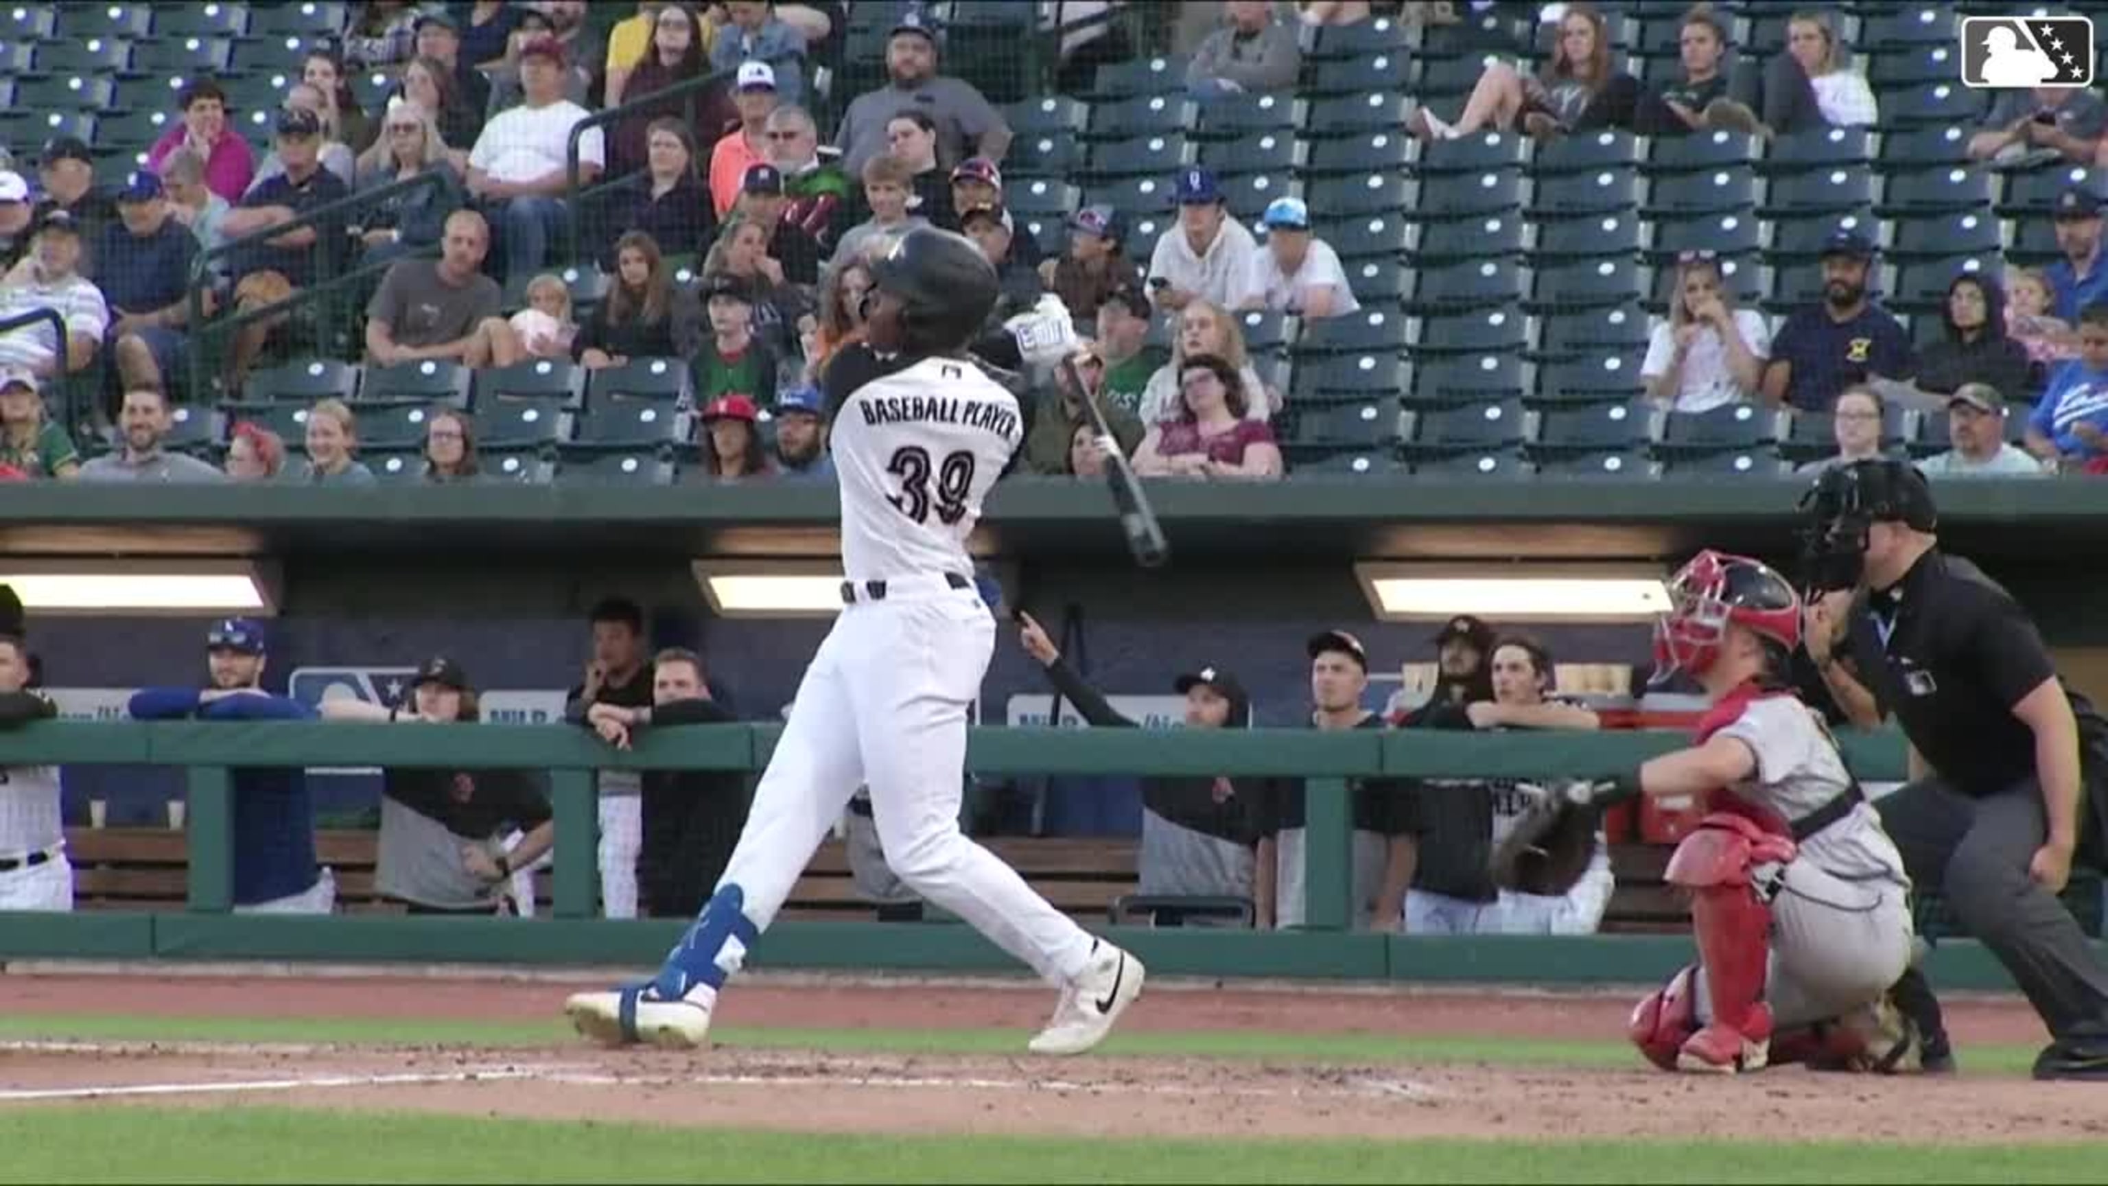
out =
<path fill-rule="evenodd" d="M 1632 1011 L 1634 1045 L 1663 1070 L 1899 1070 L 1916 1034 L 1885 992 L 1912 958 L 1910 880 L 1836 741 L 1785 690 L 1800 597 L 1771 568 L 1714 551 L 1670 595 L 1655 656 L 1712 699 L 1697 745 L 1623 783 L 1562 787 L 1518 823 L 1495 872 L 1562 893 L 1587 867 L 1604 802 L 1705 793 L 1667 869 L 1693 895 L 1699 962 Z"/>

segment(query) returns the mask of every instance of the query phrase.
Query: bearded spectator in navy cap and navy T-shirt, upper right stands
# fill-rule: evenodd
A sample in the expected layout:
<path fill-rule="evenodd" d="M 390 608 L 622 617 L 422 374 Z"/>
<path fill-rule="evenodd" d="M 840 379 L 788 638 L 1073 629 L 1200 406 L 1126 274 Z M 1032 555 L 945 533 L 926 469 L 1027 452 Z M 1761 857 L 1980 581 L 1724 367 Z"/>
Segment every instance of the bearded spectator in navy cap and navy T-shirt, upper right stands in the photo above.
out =
<path fill-rule="evenodd" d="M 1771 340 L 1764 399 L 1796 412 L 1830 412 L 1838 393 L 1874 376 L 1908 380 L 1918 369 L 1910 333 L 1868 298 L 1874 243 L 1851 228 L 1823 241 L 1823 300 L 1785 319 Z"/>

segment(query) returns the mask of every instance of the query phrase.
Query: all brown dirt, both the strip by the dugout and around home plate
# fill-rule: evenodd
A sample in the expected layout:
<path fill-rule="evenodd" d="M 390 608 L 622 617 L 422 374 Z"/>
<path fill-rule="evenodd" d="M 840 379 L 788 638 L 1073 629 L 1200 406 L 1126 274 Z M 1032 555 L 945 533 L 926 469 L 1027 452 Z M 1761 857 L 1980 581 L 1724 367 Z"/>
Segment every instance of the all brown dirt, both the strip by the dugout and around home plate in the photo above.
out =
<path fill-rule="evenodd" d="M 0 1009 L 186 1017 L 550 1019 L 569 986 L 430 979 L 268 983 L 179 977 L 0 977 Z M 824 1028 L 1010 1028 L 1043 1021 L 1048 994 L 1012 986 L 742 983 L 723 1024 Z M 1132 1030 L 1476 1034 L 1604 1038 L 1625 1000 L 1566 994 L 1288 992 L 1153 986 Z M 2015 1002 L 1950 1009 L 1971 1042 L 2032 1042 Z M 1792 1133 L 1897 1142 L 2108 1140 L 2102 1089 L 2019 1078 L 1821 1076 L 1756 1080 L 1646 1070 L 1309 1066 L 1225 1059 L 826 1055 L 717 1049 L 696 1055 L 449 1047 L 17 1045 L 0 1051 L 0 1106 L 78 1099 L 238 1102 L 436 1110 L 871 1133 L 1126 1135 L 1653 1135 Z M 793 1102 L 795 1106 L 786 1106 Z"/>

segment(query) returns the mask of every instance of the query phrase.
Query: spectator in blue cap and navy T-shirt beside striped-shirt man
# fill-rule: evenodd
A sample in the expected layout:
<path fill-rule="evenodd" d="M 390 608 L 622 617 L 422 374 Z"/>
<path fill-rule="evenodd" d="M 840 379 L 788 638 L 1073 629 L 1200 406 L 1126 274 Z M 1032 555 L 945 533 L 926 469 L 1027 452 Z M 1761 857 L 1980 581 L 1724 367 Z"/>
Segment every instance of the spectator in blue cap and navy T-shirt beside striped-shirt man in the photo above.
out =
<path fill-rule="evenodd" d="M 110 346 L 124 390 L 167 390 L 179 376 L 190 319 L 190 266 L 198 236 L 169 217 L 160 175 L 141 169 L 118 190 L 118 222 L 103 226 L 89 251 L 93 279 L 110 302 Z"/>

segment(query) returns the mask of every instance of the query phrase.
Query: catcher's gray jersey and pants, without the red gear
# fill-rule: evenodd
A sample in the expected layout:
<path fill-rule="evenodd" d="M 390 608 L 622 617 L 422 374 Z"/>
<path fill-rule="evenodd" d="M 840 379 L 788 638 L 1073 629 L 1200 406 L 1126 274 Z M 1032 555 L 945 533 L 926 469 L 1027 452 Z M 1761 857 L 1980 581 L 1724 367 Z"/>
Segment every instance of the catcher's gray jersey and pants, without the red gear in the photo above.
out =
<path fill-rule="evenodd" d="M 1836 741 L 1794 696 L 1750 701 L 1714 737 L 1756 755 L 1756 779 L 1731 793 L 1802 819 L 1851 789 Z M 1880 1000 L 1910 964 L 1910 878 L 1880 817 L 1861 802 L 1800 842 L 1771 901 L 1764 998 L 1777 1026 L 1842 1017 Z M 1699 1017 L 1710 1019 L 1699 977 Z"/>

